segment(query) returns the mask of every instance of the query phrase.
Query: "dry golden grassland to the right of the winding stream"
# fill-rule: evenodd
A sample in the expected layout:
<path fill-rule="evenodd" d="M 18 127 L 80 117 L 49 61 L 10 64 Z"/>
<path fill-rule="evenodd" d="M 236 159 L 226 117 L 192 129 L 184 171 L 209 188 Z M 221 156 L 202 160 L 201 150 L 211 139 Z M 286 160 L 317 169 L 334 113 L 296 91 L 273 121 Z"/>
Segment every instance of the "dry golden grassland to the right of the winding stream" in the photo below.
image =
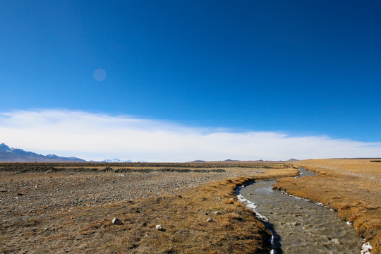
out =
<path fill-rule="evenodd" d="M 322 202 L 353 223 L 358 234 L 381 253 L 381 163 L 369 159 L 309 159 L 298 166 L 317 176 L 279 179 L 275 188 Z"/>

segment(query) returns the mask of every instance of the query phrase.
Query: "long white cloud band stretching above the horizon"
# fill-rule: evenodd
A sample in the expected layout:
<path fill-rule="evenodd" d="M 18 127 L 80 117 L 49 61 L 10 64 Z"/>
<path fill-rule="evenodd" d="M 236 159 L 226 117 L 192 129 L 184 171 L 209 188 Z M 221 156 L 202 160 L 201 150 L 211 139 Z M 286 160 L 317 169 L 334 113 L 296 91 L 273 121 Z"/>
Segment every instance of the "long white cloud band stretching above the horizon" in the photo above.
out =
<path fill-rule="evenodd" d="M 57 109 L 0 113 L 0 143 L 44 155 L 54 153 L 95 160 L 117 157 L 150 162 L 381 155 L 381 143 L 263 131 L 238 133 Z"/>

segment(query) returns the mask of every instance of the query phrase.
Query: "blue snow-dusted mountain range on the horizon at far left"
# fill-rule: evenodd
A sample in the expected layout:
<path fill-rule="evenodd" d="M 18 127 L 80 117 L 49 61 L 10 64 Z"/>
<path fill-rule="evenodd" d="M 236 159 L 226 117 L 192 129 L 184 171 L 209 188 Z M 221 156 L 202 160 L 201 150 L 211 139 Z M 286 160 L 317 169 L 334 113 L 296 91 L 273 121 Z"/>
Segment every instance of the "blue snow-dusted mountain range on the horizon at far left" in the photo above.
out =
<path fill-rule="evenodd" d="M 61 157 L 58 155 L 39 155 L 22 149 L 0 144 L 0 162 L 86 162 L 76 157 Z"/>

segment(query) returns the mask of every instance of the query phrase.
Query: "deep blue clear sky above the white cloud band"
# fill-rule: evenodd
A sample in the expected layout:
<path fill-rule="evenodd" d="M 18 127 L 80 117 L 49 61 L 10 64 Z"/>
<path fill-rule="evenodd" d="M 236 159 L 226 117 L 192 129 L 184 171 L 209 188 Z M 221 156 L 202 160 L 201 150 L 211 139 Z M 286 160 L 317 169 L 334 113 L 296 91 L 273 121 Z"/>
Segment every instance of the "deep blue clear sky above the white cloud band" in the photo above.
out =
<path fill-rule="evenodd" d="M 380 13 L 381 1 L 1 1 L 0 111 L 380 142 Z"/>

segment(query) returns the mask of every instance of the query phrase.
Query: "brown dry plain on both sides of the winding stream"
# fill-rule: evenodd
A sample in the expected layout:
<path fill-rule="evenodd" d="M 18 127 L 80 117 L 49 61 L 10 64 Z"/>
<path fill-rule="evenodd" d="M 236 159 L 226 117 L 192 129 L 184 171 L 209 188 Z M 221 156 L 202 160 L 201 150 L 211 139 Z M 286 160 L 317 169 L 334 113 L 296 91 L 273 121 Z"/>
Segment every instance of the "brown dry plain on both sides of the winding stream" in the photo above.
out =
<path fill-rule="evenodd" d="M 291 178 L 280 162 L 0 163 L 0 253 L 269 253 L 270 233 L 235 190 L 274 178 L 337 210 L 381 253 L 381 163 L 298 166 L 318 175 Z"/>

